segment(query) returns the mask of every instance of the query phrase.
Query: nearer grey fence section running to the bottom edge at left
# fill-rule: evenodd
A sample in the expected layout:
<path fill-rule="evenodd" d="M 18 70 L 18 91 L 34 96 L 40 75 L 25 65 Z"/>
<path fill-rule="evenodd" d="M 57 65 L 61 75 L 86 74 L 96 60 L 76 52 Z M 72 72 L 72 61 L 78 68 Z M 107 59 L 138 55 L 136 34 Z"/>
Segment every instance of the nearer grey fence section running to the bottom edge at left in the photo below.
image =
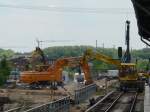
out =
<path fill-rule="evenodd" d="M 54 102 L 40 105 L 38 107 L 29 109 L 24 112 L 69 112 L 70 110 L 70 97 L 65 97 Z"/>

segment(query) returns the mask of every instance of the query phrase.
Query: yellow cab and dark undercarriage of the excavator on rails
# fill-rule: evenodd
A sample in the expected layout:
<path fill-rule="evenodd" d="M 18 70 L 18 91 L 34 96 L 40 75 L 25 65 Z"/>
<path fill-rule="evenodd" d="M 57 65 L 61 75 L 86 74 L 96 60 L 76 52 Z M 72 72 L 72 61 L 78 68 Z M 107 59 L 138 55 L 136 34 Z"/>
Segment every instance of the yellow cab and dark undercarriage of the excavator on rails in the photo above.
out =
<path fill-rule="evenodd" d="M 136 64 L 121 63 L 119 69 L 119 83 L 121 91 L 139 91 L 144 90 L 144 81 L 142 77 L 138 76 Z"/>

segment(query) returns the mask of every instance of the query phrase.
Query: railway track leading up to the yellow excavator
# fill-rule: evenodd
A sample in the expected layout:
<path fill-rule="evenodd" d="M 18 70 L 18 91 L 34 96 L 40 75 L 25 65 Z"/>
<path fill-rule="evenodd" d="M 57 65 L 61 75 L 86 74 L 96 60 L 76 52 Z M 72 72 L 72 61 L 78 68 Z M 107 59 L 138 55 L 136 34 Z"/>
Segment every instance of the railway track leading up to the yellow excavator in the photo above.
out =
<path fill-rule="evenodd" d="M 86 112 L 133 112 L 137 96 L 137 92 L 111 92 Z"/>

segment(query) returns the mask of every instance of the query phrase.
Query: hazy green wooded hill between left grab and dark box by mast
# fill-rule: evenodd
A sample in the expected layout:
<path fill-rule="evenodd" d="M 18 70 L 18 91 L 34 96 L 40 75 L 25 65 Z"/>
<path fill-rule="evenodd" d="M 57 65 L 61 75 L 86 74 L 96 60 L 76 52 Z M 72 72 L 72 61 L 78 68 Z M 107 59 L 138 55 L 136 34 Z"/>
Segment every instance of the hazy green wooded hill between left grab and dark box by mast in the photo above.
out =
<path fill-rule="evenodd" d="M 50 59 L 58 59 L 61 57 L 76 57 L 83 55 L 86 49 L 93 49 L 92 46 L 60 46 L 60 47 L 49 47 L 44 49 L 45 55 L 47 55 Z M 105 55 L 111 56 L 113 58 L 117 58 L 117 50 L 113 48 L 97 48 L 98 52 L 101 52 Z"/>

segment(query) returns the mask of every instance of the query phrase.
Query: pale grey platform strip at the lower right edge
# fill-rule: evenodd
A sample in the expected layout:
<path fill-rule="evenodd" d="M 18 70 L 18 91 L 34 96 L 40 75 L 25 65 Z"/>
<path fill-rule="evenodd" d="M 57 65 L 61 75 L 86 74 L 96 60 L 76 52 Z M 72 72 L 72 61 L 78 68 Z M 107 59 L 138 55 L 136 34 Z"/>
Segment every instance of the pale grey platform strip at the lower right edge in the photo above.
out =
<path fill-rule="evenodd" d="M 145 86 L 144 112 L 150 112 L 150 86 Z"/>

